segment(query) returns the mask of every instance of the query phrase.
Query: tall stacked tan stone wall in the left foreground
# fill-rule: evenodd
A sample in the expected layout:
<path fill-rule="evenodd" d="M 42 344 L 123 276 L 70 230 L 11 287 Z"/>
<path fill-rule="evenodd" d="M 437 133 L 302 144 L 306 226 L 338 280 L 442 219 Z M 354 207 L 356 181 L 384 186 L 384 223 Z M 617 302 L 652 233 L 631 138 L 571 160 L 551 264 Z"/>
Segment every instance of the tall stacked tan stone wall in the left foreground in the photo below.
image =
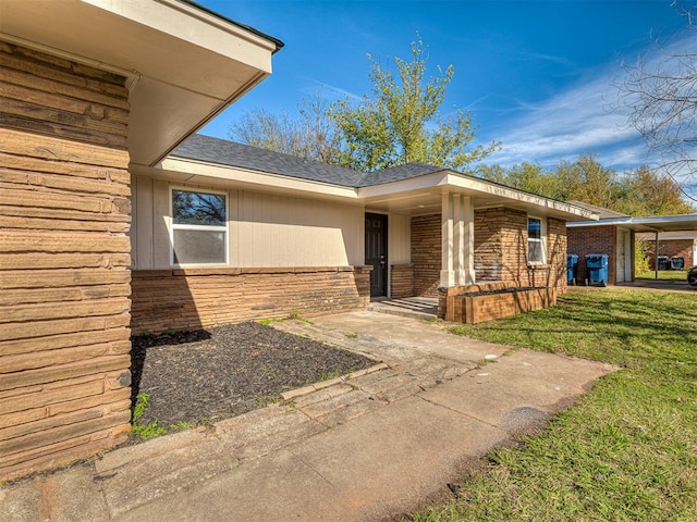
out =
<path fill-rule="evenodd" d="M 0 41 L 0 482 L 125 440 L 124 79 Z"/>

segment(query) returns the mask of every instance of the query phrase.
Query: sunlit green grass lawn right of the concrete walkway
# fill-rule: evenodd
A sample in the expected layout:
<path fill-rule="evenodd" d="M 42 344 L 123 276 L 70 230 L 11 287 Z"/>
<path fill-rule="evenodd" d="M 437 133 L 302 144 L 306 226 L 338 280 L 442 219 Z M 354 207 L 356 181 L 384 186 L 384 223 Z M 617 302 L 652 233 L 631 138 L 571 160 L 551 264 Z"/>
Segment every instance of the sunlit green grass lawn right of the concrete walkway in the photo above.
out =
<path fill-rule="evenodd" d="M 697 520 L 697 295 L 579 288 L 460 335 L 622 368 L 414 521 Z"/>

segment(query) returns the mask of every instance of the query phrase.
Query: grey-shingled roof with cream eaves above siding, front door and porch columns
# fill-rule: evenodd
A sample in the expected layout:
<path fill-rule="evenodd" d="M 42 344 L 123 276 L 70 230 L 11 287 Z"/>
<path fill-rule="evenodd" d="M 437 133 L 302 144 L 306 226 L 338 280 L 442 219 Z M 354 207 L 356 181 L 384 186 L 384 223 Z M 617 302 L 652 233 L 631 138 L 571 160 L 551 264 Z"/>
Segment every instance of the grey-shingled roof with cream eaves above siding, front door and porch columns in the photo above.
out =
<path fill-rule="evenodd" d="M 582 207 L 440 166 L 408 163 L 363 173 L 201 135 L 192 136 L 160 166 L 159 176 L 174 182 L 341 199 L 376 212 L 437 213 L 443 194 L 460 194 L 470 197 L 475 209 L 508 207 L 563 220 L 597 219 Z"/>

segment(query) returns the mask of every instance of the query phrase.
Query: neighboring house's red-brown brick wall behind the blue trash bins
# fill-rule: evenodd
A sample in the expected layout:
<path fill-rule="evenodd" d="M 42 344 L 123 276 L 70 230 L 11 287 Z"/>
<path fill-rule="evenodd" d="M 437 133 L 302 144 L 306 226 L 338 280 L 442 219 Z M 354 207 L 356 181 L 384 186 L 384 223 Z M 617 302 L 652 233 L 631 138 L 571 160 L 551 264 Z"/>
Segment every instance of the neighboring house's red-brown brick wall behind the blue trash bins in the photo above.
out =
<path fill-rule="evenodd" d="M 616 249 L 617 249 L 617 227 L 610 225 L 601 226 L 575 226 L 568 228 L 568 253 L 578 256 L 578 272 L 576 281 L 578 284 L 588 277 L 586 270 L 587 253 L 607 253 L 608 258 L 608 284 L 613 285 L 616 279 Z M 632 258 L 634 259 L 634 258 Z"/>

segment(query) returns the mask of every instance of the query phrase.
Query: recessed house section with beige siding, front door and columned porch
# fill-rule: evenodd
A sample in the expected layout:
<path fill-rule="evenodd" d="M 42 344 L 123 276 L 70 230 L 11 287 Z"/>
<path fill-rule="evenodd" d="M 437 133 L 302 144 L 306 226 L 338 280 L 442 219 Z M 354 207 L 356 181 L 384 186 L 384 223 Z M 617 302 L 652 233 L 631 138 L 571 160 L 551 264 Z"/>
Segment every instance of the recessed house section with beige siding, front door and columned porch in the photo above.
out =
<path fill-rule="evenodd" d="M 448 169 L 366 174 L 200 135 L 132 172 L 134 332 L 475 283 L 563 291 L 565 220 L 592 215 Z"/>

